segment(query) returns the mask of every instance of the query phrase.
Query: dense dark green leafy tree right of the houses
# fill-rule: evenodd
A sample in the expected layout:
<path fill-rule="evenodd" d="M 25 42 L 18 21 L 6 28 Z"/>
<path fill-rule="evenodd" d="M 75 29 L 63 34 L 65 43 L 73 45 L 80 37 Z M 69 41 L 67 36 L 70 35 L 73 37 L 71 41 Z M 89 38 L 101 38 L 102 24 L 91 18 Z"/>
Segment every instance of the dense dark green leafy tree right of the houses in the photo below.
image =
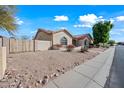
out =
<path fill-rule="evenodd" d="M 113 28 L 111 21 L 100 21 L 96 23 L 93 30 L 94 44 L 107 43 L 109 41 L 109 32 Z"/>

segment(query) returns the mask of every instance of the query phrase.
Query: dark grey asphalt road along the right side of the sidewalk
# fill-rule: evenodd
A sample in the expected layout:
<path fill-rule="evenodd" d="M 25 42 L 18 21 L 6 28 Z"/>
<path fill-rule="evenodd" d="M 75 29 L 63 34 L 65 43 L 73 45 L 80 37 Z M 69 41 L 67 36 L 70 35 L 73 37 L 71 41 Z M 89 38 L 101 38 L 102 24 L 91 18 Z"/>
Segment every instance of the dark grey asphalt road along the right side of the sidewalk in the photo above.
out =
<path fill-rule="evenodd" d="M 124 88 L 124 46 L 117 46 L 113 65 L 105 87 Z"/>

